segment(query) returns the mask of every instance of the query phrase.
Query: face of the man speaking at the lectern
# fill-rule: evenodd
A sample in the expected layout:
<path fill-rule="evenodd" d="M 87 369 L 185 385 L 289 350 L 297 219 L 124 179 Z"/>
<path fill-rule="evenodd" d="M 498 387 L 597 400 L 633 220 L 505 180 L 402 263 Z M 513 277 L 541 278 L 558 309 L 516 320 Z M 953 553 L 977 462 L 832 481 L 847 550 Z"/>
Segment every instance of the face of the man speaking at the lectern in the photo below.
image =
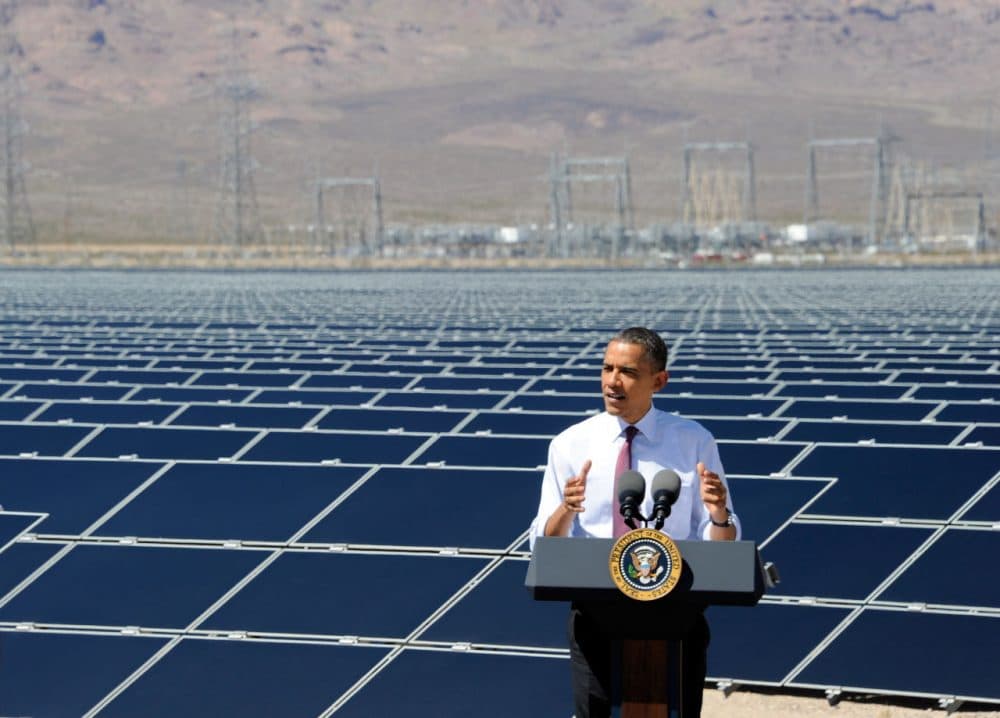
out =
<path fill-rule="evenodd" d="M 667 383 L 666 371 L 653 371 L 640 344 L 613 341 L 604 350 L 601 393 L 612 416 L 634 424 L 653 404 L 653 394 Z"/>

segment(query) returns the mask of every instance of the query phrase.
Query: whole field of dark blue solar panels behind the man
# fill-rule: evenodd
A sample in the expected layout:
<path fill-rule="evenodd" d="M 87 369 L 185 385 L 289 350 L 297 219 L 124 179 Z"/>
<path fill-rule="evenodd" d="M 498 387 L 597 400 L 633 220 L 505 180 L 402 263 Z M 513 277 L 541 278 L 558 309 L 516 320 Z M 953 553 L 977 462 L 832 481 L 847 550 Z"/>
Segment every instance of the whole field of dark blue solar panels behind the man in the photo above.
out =
<path fill-rule="evenodd" d="M 527 527 L 634 324 L 782 574 L 710 677 L 1000 702 L 996 270 L 2 277 L 0 714 L 569 716 Z"/>

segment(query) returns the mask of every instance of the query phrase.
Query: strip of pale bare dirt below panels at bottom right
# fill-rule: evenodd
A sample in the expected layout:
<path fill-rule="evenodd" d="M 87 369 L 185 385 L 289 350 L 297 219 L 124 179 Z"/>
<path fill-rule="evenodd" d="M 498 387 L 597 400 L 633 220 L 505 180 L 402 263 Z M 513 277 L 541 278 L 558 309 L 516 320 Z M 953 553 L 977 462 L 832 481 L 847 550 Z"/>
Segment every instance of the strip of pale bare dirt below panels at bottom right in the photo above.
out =
<path fill-rule="evenodd" d="M 902 698 L 845 696 L 831 706 L 822 695 L 788 695 L 736 690 L 725 697 L 722 691 L 705 690 L 703 718 L 929 718 L 948 713 L 935 701 L 915 702 Z M 1000 706 L 966 704 L 954 713 L 961 718 L 1000 718 Z"/>

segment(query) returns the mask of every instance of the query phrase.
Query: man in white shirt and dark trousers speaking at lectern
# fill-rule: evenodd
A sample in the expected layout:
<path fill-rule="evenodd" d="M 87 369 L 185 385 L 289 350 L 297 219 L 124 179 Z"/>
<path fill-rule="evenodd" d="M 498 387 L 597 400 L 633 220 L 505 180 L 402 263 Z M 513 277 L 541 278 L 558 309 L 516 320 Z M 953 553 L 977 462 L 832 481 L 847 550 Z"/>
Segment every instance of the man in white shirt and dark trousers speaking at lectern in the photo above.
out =
<path fill-rule="evenodd" d="M 700 424 L 653 407 L 667 384 L 667 347 L 643 327 L 625 329 L 608 343 L 601 368 L 604 412 L 569 427 L 549 445 L 538 514 L 538 536 L 614 538 L 628 531 L 618 511 L 615 480 L 627 471 L 651 477 L 671 470 L 680 477 L 676 503 L 662 531 L 674 540 L 732 541 L 740 536 L 718 448 Z M 653 514 L 645 496 L 639 513 Z M 685 628 L 684 673 L 704 682 L 708 625 L 703 616 Z M 569 620 L 570 663 L 576 718 L 611 711 L 611 640 L 574 604 Z M 701 691 L 685 694 L 685 716 L 701 711 Z"/>

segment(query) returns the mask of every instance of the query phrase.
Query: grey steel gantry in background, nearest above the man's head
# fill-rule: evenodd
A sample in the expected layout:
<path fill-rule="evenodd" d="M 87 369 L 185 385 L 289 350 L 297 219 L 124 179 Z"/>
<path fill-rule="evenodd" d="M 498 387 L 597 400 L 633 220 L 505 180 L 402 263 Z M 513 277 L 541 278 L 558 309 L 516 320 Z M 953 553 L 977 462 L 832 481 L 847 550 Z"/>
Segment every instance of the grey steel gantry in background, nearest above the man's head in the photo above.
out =
<path fill-rule="evenodd" d="M 567 157 L 560 160 L 558 154 L 552 156 L 549 167 L 549 212 L 555 229 L 549 245 L 550 256 L 569 256 L 564 229 L 573 223 L 573 185 L 593 183 L 611 184 L 614 188 L 616 224 L 611 256 L 621 256 L 626 230 L 635 232 L 628 157 Z"/>

